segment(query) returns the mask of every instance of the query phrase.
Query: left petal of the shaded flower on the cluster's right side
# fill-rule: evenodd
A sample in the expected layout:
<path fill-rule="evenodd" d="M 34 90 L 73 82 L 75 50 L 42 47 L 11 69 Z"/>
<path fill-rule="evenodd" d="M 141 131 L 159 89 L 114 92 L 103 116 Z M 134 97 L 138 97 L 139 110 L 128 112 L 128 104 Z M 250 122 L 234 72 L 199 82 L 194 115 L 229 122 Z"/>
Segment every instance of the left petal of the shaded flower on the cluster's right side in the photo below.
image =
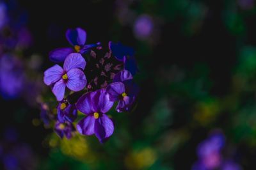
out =
<path fill-rule="evenodd" d="M 109 94 L 109 100 L 115 102 L 120 100 L 120 95 L 125 92 L 125 86 L 122 82 L 114 82 L 108 85 L 106 91 Z"/>

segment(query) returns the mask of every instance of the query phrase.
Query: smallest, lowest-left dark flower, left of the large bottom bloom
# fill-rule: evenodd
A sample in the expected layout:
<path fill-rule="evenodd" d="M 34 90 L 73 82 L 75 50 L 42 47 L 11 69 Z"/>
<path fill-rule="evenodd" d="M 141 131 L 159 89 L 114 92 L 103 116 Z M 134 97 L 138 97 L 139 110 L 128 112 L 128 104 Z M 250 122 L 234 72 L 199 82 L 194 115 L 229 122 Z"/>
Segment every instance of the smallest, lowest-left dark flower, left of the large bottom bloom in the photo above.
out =
<path fill-rule="evenodd" d="M 67 139 L 70 139 L 72 137 L 72 132 L 74 132 L 76 129 L 69 121 L 65 121 L 64 123 L 57 121 L 54 130 L 61 138 L 66 136 Z"/>

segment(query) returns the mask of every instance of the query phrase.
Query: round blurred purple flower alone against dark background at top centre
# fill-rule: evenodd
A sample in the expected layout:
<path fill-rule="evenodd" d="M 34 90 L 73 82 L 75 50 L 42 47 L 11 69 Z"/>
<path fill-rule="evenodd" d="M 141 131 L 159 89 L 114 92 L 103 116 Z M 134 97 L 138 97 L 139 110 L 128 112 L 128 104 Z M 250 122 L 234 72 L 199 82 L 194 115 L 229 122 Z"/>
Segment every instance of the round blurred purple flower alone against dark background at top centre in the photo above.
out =
<path fill-rule="evenodd" d="M 153 21 L 149 15 L 140 15 L 134 22 L 134 35 L 140 40 L 145 40 L 152 34 L 153 27 Z"/>

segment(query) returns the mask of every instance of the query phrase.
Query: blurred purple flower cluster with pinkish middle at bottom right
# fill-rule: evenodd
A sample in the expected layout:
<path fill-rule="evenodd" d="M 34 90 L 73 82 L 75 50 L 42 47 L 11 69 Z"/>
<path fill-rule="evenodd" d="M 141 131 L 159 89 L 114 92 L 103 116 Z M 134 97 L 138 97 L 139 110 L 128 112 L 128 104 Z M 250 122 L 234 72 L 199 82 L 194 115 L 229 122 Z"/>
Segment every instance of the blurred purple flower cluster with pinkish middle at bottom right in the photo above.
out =
<path fill-rule="evenodd" d="M 240 170 L 239 164 L 230 158 L 223 158 L 225 137 L 221 132 L 212 133 L 205 141 L 198 145 L 198 161 L 193 165 L 193 170 Z"/>

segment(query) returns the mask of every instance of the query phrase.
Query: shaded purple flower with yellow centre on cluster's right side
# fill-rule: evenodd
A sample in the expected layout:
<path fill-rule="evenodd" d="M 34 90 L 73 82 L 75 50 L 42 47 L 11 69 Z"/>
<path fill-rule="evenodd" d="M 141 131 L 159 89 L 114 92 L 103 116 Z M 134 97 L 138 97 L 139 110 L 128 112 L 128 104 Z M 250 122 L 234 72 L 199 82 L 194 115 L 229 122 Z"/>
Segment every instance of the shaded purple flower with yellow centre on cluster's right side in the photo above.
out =
<path fill-rule="evenodd" d="M 131 73 L 123 70 L 115 75 L 113 83 L 109 84 L 106 89 L 109 93 L 109 100 L 111 102 L 118 101 L 117 112 L 131 111 L 132 109 L 138 94 L 138 86 L 131 79 Z"/>

